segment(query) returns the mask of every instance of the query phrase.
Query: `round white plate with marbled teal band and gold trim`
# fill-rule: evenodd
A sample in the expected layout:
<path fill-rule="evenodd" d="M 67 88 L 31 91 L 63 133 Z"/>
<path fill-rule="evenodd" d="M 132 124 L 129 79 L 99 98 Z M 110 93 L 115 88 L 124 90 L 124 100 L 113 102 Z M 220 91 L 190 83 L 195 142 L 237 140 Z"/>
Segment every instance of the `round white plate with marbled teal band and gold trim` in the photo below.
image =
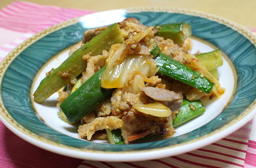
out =
<path fill-rule="evenodd" d="M 146 25 L 189 23 L 193 30 L 194 53 L 198 49 L 203 52 L 221 49 L 224 64 L 218 72 L 225 95 L 216 101 L 206 101 L 205 115 L 178 127 L 174 137 L 132 145 L 79 139 L 73 127 L 63 129 L 66 125 L 56 117 L 56 107 L 51 106 L 56 101 L 49 99 L 45 104 L 37 104 L 32 99 L 33 91 L 45 72 L 59 65 L 59 59 L 67 57 L 68 49 L 82 39 L 85 30 L 127 17 L 135 17 Z M 255 115 L 255 44 L 255 36 L 241 25 L 190 10 L 122 9 L 75 18 L 36 34 L 1 62 L 0 119 L 31 144 L 75 158 L 139 161 L 185 153 L 218 141 Z"/>

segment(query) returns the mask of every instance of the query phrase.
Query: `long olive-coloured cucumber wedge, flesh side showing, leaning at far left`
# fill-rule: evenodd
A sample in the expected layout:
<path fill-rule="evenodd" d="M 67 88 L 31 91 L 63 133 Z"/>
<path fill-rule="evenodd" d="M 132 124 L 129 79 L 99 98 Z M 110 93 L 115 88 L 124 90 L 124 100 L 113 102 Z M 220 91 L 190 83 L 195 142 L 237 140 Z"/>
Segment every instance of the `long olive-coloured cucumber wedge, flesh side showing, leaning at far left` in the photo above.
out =
<path fill-rule="evenodd" d="M 123 36 L 117 23 L 95 36 L 88 43 L 77 49 L 65 62 L 46 76 L 34 93 L 34 101 L 41 103 L 53 93 L 77 77 L 87 67 L 87 61 L 82 59 L 84 54 L 98 55 L 102 50 L 109 50 L 112 44 L 121 43 Z"/>

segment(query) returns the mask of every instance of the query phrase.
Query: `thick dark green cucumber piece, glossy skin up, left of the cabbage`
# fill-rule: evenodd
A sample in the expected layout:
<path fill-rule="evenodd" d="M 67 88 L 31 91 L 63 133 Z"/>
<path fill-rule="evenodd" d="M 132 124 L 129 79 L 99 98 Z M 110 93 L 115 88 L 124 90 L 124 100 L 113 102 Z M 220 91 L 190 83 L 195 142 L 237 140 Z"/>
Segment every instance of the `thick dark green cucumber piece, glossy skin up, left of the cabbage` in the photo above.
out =
<path fill-rule="evenodd" d="M 79 121 L 111 97 L 113 89 L 106 90 L 100 87 L 104 70 L 105 67 L 101 68 L 60 104 L 60 108 L 70 123 Z"/>

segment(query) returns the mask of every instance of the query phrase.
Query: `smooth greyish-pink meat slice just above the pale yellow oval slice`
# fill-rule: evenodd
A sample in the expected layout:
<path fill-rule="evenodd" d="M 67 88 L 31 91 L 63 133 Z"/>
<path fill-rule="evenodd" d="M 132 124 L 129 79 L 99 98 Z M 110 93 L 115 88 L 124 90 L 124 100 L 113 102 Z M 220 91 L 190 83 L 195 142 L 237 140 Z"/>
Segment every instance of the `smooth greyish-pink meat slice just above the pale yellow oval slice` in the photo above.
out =
<path fill-rule="evenodd" d="M 169 91 L 166 89 L 145 87 L 141 88 L 148 97 L 160 101 L 167 107 L 169 107 L 172 112 L 180 110 L 182 104 L 182 94 L 175 93 L 174 91 Z"/>

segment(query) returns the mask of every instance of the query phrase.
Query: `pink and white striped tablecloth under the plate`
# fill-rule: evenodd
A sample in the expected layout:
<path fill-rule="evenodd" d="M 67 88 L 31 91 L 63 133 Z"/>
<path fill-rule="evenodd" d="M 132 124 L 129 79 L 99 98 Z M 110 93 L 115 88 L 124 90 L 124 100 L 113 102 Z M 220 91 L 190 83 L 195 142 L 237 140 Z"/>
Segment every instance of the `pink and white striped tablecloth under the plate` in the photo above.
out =
<path fill-rule="evenodd" d="M 16 1 L 0 10 L 0 61 L 16 45 L 59 22 L 92 13 Z M 38 19 L 40 18 L 40 19 Z M 248 27 L 256 33 L 256 29 Z M 0 122 L 0 167 L 254 167 L 256 119 L 231 135 L 186 154 L 141 162 L 97 162 L 39 149 Z"/>

